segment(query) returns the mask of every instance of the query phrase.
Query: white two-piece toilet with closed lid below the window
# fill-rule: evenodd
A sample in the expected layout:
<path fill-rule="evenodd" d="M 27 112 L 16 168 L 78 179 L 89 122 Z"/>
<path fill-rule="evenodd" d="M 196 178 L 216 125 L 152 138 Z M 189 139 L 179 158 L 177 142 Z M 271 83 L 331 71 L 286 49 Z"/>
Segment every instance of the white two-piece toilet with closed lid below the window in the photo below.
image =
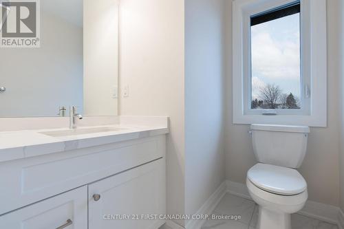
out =
<path fill-rule="evenodd" d="M 247 173 L 246 185 L 259 205 L 257 229 L 290 229 L 291 214 L 303 208 L 307 183 L 299 168 L 307 149 L 309 127 L 252 124 L 258 164 Z"/>

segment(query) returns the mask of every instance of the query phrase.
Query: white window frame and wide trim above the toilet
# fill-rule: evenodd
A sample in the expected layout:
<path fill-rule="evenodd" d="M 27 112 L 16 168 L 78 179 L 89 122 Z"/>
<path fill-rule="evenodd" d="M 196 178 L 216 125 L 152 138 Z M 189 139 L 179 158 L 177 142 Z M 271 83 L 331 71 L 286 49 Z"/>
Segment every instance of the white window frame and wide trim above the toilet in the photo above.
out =
<path fill-rule="evenodd" d="M 295 0 L 233 1 L 233 123 L 327 126 L 326 0 L 301 0 L 301 109 L 251 109 L 250 17 Z M 276 114 L 266 116 L 266 114 Z"/>

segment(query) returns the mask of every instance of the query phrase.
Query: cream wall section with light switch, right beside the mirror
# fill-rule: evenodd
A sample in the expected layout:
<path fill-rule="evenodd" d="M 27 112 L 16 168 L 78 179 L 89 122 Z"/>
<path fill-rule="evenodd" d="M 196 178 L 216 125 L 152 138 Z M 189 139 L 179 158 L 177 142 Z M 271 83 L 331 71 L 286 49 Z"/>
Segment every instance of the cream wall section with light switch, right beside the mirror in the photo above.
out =
<path fill-rule="evenodd" d="M 184 214 L 184 0 L 120 1 L 119 75 L 120 115 L 170 117 L 167 213 Z"/>

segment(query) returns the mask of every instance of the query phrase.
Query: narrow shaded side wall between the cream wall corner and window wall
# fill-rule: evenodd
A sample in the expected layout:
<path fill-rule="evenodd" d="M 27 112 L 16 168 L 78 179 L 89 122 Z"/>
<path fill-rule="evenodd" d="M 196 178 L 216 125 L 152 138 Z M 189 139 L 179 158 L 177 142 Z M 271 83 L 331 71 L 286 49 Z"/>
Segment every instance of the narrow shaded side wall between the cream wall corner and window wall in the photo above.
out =
<path fill-rule="evenodd" d="M 225 0 L 185 1 L 185 204 L 195 214 L 225 180 Z"/>

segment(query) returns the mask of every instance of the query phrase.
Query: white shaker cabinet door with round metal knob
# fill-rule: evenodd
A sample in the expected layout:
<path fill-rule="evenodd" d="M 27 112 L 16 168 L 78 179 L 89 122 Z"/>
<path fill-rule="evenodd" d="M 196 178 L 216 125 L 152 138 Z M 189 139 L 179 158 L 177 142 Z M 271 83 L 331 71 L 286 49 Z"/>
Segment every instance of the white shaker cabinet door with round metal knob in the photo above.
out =
<path fill-rule="evenodd" d="M 89 229 L 159 228 L 165 184 L 164 158 L 90 184 Z"/>

